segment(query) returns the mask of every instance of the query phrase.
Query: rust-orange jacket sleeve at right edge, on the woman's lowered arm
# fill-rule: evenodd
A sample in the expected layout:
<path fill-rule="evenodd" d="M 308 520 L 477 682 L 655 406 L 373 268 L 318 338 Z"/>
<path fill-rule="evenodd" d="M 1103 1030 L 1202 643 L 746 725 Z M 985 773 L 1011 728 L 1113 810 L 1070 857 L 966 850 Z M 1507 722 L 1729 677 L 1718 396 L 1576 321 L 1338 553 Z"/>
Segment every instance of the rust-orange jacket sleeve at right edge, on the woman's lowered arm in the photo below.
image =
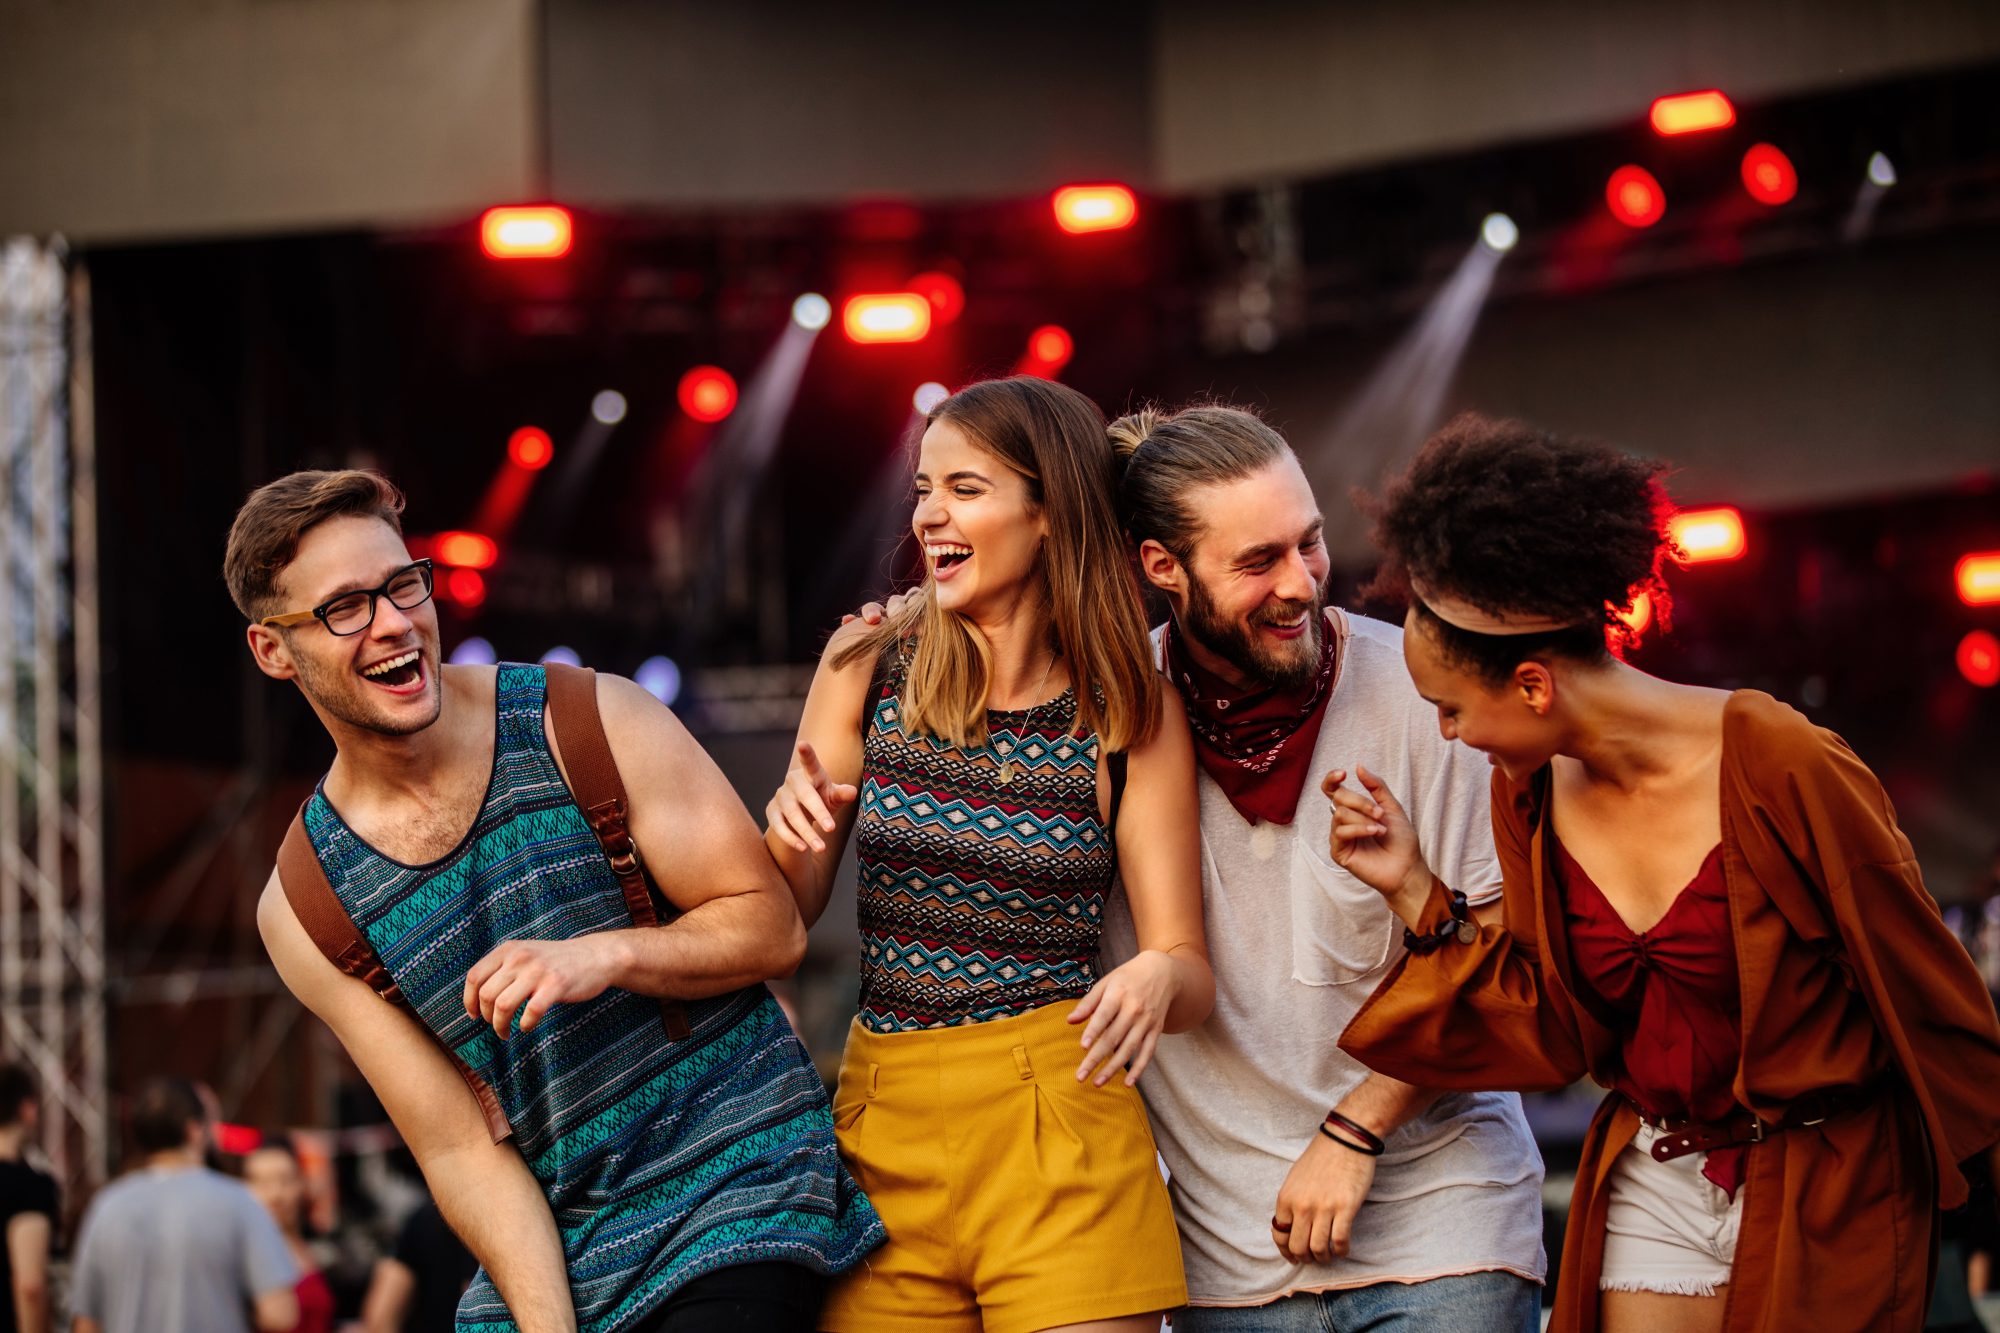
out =
<path fill-rule="evenodd" d="M 1796 715 L 1794 715 L 1796 717 Z M 1874 773 L 1802 717 L 1766 755 L 1786 755 L 1784 805 L 1770 809 L 1786 851 L 1826 895 L 1876 1029 L 1924 1111 L 1942 1207 L 1958 1207 L 1958 1163 L 2000 1141 L 2000 1023 Z M 1766 769 L 1772 773 L 1776 769 Z M 1776 805 L 1776 803 L 1772 803 Z"/>

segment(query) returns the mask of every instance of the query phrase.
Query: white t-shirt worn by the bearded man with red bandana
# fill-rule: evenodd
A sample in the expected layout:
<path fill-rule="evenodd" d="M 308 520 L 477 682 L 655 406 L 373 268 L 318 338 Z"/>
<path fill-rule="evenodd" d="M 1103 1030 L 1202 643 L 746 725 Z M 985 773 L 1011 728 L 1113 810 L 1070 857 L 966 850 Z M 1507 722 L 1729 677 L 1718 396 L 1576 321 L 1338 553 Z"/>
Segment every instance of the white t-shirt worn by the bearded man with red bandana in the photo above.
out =
<path fill-rule="evenodd" d="M 1194 1305 L 1506 1269 L 1542 1279 L 1542 1155 L 1514 1093 L 1450 1093 L 1388 1137 L 1346 1259 L 1292 1263 L 1270 1239 L 1278 1187 L 1368 1069 L 1336 1045 L 1402 953 L 1402 923 L 1328 859 L 1328 769 L 1366 765 L 1410 811 L 1424 857 L 1478 905 L 1500 895 L 1490 769 L 1438 735 L 1402 630 L 1330 610 L 1346 648 L 1290 825 L 1252 827 L 1202 773 L 1202 903 L 1216 1009 L 1164 1037 L 1140 1079 Z M 1352 785 L 1352 779 L 1350 779 Z M 1104 961 L 1136 953 L 1124 895 Z"/>

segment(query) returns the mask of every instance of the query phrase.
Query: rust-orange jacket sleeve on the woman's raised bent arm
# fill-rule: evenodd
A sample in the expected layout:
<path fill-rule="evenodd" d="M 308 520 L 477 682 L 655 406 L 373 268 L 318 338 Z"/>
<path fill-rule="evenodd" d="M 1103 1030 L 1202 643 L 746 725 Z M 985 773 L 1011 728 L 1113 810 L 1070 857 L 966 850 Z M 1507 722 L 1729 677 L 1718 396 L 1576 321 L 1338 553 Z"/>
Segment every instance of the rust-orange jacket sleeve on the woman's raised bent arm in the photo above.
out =
<path fill-rule="evenodd" d="M 1542 977 L 1536 887 L 1522 799 L 1494 775 L 1494 851 L 1504 881 L 1502 925 L 1428 955 L 1404 953 L 1340 1035 L 1340 1049 L 1378 1073 L 1448 1089 L 1554 1091 L 1588 1071 L 1576 1013 Z M 1418 921 L 1450 919 L 1432 881 Z"/>

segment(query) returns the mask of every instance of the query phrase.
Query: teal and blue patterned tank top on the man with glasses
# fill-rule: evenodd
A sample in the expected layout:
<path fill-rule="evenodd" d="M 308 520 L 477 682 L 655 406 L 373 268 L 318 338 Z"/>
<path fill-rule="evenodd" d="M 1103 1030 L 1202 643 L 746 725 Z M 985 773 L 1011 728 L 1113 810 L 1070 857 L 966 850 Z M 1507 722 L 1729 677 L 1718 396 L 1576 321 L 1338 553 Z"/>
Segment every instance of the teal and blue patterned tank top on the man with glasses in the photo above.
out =
<path fill-rule="evenodd" d="M 852 1267 L 882 1223 L 840 1165 L 824 1085 L 764 987 L 690 1003 L 682 1041 L 666 1039 L 656 999 L 616 989 L 504 1043 L 466 1017 L 466 973 L 496 945 L 630 925 L 548 751 L 542 669 L 502 664 L 496 697 L 492 785 L 454 851 L 392 861 L 324 789 L 306 831 L 418 1019 L 498 1095 L 562 1235 L 580 1329 L 630 1329 L 738 1263 Z M 484 1271 L 458 1327 L 514 1329 Z"/>

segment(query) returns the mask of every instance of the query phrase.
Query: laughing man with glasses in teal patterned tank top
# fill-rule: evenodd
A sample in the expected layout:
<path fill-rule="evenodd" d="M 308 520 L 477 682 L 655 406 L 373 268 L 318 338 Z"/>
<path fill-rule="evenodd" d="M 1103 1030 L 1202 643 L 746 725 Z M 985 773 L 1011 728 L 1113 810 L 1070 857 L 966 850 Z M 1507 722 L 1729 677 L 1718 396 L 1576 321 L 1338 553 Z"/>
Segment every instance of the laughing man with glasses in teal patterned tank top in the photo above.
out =
<path fill-rule="evenodd" d="M 336 745 L 302 813 L 406 1005 L 344 975 L 274 873 L 272 961 L 334 1029 L 482 1271 L 460 1321 L 810 1329 L 882 1239 L 766 977 L 804 927 L 728 783 L 672 713 L 596 679 L 628 823 L 678 909 L 636 929 L 548 721 L 540 666 L 442 666 L 428 560 L 376 472 L 294 472 L 230 528 L 258 669 Z M 686 1001 L 670 1037 L 658 999 Z M 492 1109 L 460 1077 L 474 1069 Z"/>

